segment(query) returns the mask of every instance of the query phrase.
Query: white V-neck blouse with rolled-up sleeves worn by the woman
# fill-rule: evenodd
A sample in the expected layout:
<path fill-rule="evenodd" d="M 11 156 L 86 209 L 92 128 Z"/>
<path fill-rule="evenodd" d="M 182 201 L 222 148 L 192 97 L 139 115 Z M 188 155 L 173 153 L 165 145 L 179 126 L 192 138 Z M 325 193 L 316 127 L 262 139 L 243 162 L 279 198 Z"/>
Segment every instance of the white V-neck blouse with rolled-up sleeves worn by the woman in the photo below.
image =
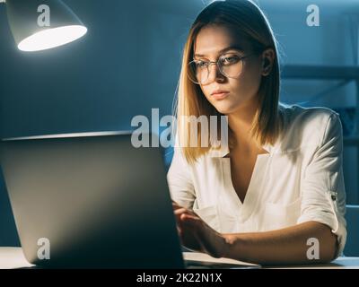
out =
<path fill-rule="evenodd" d="M 259 154 L 241 203 L 231 178 L 228 148 L 211 150 L 193 165 L 174 148 L 167 179 L 171 197 L 219 232 L 282 229 L 321 222 L 346 243 L 342 126 L 331 109 L 285 107 L 285 134 Z"/>

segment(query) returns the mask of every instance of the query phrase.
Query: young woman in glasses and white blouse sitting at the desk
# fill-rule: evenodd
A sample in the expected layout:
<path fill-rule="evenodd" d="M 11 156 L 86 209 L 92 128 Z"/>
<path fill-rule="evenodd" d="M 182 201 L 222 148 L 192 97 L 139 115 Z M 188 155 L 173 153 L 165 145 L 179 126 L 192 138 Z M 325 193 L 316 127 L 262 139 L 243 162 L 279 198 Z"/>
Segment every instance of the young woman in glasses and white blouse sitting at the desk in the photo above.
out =
<path fill-rule="evenodd" d="M 346 242 L 342 129 L 330 109 L 279 104 L 276 39 L 250 0 L 209 4 L 189 30 L 168 172 L 180 239 L 214 257 L 328 262 Z M 183 116 L 227 116 L 229 144 L 188 143 Z M 223 139 L 221 139 L 223 140 Z"/>

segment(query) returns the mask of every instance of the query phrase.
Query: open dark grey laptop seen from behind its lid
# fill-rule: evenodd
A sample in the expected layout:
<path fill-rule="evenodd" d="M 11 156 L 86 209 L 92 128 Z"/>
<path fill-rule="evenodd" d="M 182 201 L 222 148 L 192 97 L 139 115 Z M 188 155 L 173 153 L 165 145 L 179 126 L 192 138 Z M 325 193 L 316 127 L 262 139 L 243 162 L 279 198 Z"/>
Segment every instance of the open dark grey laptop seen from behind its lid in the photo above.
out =
<path fill-rule="evenodd" d="M 132 135 L 83 133 L 1 141 L 4 181 L 22 250 L 31 264 L 187 266 L 162 149 L 136 148 Z M 210 262 L 193 255 L 186 254 L 191 265 Z"/>

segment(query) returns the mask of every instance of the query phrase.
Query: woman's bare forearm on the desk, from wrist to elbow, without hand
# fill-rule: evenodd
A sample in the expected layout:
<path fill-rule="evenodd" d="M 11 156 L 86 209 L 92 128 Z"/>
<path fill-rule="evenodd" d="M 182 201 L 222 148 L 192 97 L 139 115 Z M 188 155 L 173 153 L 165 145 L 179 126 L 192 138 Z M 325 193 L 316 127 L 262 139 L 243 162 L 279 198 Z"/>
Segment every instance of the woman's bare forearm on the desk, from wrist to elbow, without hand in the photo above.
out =
<path fill-rule="evenodd" d="M 319 222 L 304 222 L 282 230 L 223 234 L 223 237 L 226 242 L 223 257 L 262 265 L 324 263 L 337 254 L 337 236 Z M 318 239 L 318 259 L 308 257 L 308 250 L 313 248 L 308 239 Z"/>

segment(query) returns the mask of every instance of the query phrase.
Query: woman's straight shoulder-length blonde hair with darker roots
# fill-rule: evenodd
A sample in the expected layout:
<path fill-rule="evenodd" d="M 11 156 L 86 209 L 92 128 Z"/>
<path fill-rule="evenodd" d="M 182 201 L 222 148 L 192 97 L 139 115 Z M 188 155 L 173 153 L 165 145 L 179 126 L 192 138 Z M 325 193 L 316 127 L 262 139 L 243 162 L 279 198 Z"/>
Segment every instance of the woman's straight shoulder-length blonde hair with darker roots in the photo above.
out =
<path fill-rule="evenodd" d="M 200 86 L 188 79 L 188 63 L 193 60 L 194 43 L 197 34 L 207 25 L 226 26 L 234 32 L 241 33 L 250 42 L 253 50 L 258 53 L 261 53 L 266 48 L 274 49 L 276 57 L 271 73 L 266 77 L 262 77 L 259 86 L 258 111 L 253 120 L 251 135 L 261 145 L 275 143 L 280 134 L 282 122 L 279 115 L 280 109 L 278 109 L 280 71 L 276 39 L 267 17 L 250 0 L 215 1 L 198 14 L 188 32 L 188 39 L 183 49 L 175 116 L 178 119 L 182 116 L 206 116 L 208 118 L 218 116 L 217 133 L 221 135 L 220 116 L 223 116 L 223 114 L 218 112 L 206 100 Z M 197 161 L 198 157 L 208 152 L 211 148 L 215 148 L 211 144 L 208 147 L 201 147 L 201 129 L 202 126 L 198 127 L 197 130 L 197 147 L 190 147 L 188 144 L 190 141 L 189 124 L 186 121 L 178 121 L 177 135 L 179 136 L 182 151 L 189 163 Z M 208 139 L 206 140 L 208 141 Z M 229 129 L 230 146 L 234 143 L 233 141 L 232 131 Z"/>

